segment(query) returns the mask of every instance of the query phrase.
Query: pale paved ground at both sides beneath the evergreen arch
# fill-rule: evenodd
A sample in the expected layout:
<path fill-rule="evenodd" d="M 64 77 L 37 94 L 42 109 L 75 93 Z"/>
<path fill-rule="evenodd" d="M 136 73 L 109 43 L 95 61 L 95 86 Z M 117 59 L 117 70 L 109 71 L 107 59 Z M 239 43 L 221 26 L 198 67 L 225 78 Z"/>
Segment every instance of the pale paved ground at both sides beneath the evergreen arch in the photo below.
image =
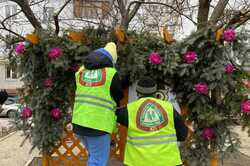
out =
<path fill-rule="evenodd" d="M 241 138 L 240 153 L 232 154 L 232 157 L 225 161 L 224 166 L 250 166 L 250 138 L 246 132 L 241 131 L 240 127 L 235 127 L 234 131 L 239 133 Z M 20 131 L 0 138 L 0 166 L 24 166 L 27 161 L 39 156 L 36 149 L 29 154 L 31 148 L 29 142 L 20 147 L 22 140 L 23 136 Z M 110 166 L 121 165 L 116 161 L 112 161 L 110 164 Z"/>

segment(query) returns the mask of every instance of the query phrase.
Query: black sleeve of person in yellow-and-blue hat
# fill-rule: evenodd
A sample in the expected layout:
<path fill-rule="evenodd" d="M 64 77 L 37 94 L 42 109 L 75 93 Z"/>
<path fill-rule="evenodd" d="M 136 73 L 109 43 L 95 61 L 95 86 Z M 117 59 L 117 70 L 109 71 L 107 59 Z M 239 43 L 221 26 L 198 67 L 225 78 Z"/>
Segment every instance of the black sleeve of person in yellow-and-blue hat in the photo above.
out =
<path fill-rule="evenodd" d="M 111 87 L 110 87 L 110 94 L 112 98 L 115 100 L 117 107 L 120 106 L 120 100 L 123 98 L 123 90 L 122 90 L 122 84 L 121 80 L 118 76 L 118 73 L 115 73 Z"/>

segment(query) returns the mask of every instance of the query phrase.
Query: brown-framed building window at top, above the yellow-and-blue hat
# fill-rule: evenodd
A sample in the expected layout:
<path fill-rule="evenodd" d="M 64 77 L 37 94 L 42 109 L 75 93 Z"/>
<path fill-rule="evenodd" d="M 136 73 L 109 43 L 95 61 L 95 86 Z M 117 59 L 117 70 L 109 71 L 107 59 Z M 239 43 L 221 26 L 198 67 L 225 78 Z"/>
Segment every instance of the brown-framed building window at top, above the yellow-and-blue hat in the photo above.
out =
<path fill-rule="evenodd" d="M 105 18 L 110 11 L 110 1 L 74 0 L 74 16 L 89 19 Z"/>

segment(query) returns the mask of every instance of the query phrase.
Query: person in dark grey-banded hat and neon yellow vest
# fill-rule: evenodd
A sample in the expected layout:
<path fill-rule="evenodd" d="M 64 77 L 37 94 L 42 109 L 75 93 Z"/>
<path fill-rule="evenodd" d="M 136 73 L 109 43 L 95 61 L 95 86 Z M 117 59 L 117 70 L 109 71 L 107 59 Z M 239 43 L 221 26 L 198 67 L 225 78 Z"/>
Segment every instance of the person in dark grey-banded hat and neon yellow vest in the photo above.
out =
<path fill-rule="evenodd" d="M 181 165 L 177 141 L 188 129 L 172 104 L 154 97 L 157 85 L 150 77 L 136 86 L 139 99 L 117 109 L 117 122 L 128 127 L 124 164 L 127 166 Z"/>

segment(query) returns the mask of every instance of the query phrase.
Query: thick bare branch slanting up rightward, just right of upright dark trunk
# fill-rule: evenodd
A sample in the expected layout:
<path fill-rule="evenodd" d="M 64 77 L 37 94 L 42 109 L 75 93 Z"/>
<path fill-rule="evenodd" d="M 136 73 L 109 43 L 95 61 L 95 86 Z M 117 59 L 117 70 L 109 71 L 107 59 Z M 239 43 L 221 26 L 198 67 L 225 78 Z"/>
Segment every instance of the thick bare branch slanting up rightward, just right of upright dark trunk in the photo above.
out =
<path fill-rule="evenodd" d="M 229 0 L 220 0 L 213 10 L 213 13 L 209 19 L 210 25 L 214 25 L 218 22 L 219 18 L 223 15 Z"/>

